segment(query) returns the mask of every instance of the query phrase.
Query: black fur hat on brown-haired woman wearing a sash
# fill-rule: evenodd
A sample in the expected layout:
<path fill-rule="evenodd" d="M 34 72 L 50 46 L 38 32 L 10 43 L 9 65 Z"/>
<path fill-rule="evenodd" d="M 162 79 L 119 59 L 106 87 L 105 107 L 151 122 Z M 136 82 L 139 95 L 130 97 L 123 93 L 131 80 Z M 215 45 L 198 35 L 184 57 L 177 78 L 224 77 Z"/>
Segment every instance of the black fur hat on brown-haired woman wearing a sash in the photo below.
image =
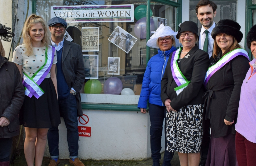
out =
<path fill-rule="evenodd" d="M 213 28 L 212 37 L 215 39 L 217 34 L 225 33 L 233 36 L 237 39 L 237 42 L 240 43 L 243 38 L 243 33 L 240 31 L 240 28 L 241 26 L 237 22 L 229 19 L 223 19 L 218 22 L 215 28 Z"/>

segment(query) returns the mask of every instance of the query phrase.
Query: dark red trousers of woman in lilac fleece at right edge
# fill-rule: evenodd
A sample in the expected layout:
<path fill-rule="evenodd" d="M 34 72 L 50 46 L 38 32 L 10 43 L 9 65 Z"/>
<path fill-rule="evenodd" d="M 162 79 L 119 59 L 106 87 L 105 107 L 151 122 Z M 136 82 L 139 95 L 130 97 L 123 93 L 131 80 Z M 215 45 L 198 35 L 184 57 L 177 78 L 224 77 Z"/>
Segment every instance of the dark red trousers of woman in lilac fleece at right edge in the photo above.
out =
<path fill-rule="evenodd" d="M 236 154 L 238 165 L 256 165 L 256 144 L 247 140 L 239 132 L 236 133 Z"/>

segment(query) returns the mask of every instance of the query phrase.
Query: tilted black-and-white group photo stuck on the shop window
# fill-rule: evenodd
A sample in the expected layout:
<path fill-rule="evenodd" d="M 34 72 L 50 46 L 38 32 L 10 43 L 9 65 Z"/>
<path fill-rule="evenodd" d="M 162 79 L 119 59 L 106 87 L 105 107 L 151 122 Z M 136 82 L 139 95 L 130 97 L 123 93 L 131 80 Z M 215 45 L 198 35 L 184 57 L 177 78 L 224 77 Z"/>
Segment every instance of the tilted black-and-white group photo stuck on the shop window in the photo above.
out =
<path fill-rule="evenodd" d="M 108 40 L 126 53 L 129 53 L 134 43 L 137 41 L 137 38 L 123 30 L 120 26 L 117 26 L 113 33 L 109 36 Z"/>

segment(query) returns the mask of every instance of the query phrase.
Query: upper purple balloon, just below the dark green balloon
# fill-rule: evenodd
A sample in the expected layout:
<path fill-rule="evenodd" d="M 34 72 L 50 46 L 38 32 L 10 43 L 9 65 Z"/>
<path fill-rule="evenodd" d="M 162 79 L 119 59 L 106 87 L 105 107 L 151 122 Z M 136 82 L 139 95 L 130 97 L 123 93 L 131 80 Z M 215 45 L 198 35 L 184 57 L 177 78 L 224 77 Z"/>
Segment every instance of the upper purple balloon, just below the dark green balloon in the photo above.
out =
<path fill-rule="evenodd" d="M 150 17 L 150 32 L 155 28 L 153 18 Z M 134 33 L 138 38 L 147 38 L 147 17 L 139 19 L 134 26 Z"/>

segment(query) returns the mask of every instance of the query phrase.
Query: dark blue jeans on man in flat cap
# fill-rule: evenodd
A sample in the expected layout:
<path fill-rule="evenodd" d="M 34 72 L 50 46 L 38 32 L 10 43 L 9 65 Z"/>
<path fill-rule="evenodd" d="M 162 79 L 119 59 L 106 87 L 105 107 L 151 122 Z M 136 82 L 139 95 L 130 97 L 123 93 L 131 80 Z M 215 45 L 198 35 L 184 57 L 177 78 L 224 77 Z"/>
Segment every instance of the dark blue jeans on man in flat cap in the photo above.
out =
<path fill-rule="evenodd" d="M 75 159 L 78 156 L 78 121 L 76 97 L 70 93 L 65 99 L 59 101 L 60 115 L 63 117 L 67 128 L 67 141 L 69 157 Z M 52 159 L 59 157 L 59 129 L 49 128 L 47 134 L 49 151 Z"/>

